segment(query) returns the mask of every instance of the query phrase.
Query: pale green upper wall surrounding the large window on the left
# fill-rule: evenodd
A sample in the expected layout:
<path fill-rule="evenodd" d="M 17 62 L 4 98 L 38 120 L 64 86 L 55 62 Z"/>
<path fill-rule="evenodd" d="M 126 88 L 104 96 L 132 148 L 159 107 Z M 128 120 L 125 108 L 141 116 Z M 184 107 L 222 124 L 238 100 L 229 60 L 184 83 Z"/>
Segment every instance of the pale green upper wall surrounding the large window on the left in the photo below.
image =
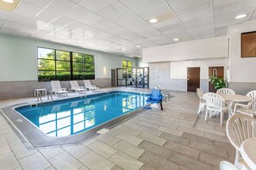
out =
<path fill-rule="evenodd" d="M 107 52 L 0 33 L 0 82 L 37 80 L 37 46 L 95 55 L 96 78 L 110 78 L 111 69 L 122 67 L 124 58 L 136 63 L 134 58 Z M 108 76 L 103 75 L 103 67 L 106 67 Z"/>

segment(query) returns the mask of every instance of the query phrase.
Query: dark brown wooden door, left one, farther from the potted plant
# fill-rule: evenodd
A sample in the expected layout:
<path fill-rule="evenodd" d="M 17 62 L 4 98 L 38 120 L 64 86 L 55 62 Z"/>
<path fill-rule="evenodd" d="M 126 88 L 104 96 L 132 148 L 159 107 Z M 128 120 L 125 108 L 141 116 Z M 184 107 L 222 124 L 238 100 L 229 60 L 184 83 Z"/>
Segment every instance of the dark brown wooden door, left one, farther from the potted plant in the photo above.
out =
<path fill-rule="evenodd" d="M 200 88 L 200 67 L 187 69 L 187 91 L 196 92 Z"/>

